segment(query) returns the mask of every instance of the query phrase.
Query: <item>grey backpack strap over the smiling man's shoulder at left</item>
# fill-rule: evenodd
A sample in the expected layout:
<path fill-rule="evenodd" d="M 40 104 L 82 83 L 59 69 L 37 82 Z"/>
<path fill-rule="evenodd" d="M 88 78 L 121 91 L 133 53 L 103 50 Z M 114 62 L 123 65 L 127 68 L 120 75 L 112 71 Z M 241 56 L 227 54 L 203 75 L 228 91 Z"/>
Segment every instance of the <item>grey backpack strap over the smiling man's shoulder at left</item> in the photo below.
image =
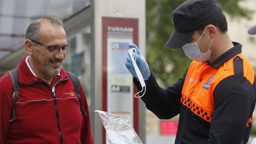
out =
<path fill-rule="evenodd" d="M 13 102 L 12 102 L 12 120 L 9 120 L 10 122 L 15 120 L 15 112 L 14 112 L 14 106 L 15 103 L 17 101 L 17 99 L 19 98 L 19 73 L 18 73 L 18 69 L 14 69 L 12 71 L 9 71 L 9 75 L 11 77 L 12 80 L 12 85 L 13 85 Z"/>

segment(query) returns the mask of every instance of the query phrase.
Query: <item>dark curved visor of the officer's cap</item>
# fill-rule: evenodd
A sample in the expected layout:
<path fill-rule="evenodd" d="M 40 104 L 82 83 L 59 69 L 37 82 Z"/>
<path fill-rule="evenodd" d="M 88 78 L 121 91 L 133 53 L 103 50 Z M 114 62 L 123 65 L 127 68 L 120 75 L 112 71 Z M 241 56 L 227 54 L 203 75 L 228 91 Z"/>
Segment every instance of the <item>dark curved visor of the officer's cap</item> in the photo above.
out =
<path fill-rule="evenodd" d="M 193 34 L 194 34 L 194 31 L 190 31 L 186 33 L 178 33 L 174 31 L 165 45 L 173 49 L 178 49 L 183 45 L 185 45 L 190 40 Z"/>

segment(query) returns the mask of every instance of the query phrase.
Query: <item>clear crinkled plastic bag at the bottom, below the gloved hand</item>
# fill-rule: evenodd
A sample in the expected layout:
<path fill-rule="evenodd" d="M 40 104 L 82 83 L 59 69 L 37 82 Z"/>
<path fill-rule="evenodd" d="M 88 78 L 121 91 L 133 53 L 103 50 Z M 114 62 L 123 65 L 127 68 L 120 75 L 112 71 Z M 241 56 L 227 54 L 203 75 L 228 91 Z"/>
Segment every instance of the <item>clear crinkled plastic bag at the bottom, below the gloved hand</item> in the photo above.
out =
<path fill-rule="evenodd" d="M 95 112 L 100 115 L 109 144 L 142 144 L 129 120 L 105 111 Z"/>

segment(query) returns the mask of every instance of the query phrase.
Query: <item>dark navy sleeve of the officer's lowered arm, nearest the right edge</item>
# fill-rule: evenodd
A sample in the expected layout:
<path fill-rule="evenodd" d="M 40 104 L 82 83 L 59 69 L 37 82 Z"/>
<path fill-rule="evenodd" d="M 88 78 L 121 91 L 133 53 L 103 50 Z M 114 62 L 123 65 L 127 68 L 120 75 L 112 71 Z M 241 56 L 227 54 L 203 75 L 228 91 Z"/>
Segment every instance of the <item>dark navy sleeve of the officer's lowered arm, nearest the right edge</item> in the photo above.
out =
<path fill-rule="evenodd" d="M 247 121 L 255 106 L 255 91 L 243 76 L 229 76 L 215 88 L 214 109 L 206 144 L 245 144 Z M 251 113 L 251 114 L 250 114 Z"/>

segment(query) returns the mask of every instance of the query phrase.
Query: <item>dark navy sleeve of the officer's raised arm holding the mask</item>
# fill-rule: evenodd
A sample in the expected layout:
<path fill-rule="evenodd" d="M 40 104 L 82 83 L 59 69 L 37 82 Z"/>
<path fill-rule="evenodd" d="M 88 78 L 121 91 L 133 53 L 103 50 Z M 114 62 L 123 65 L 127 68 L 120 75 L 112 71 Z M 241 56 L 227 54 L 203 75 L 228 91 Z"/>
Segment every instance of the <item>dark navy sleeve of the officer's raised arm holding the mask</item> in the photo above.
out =
<path fill-rule="evenodd" d="M 178 79 L 171 87 L 164 89 L 159 87 L 151 73 L 149 79 L 145 80 L 145 95 L 141 97 L 147 109 L 152 111 L 160 119 L 170 119 L 180 113 L 180 97 L 186 74 L 187 72 L 183 75 L 183 78 Z M 142 90 L 136 78 L 133 78 L 133 83 L 138 91 Z"/>

